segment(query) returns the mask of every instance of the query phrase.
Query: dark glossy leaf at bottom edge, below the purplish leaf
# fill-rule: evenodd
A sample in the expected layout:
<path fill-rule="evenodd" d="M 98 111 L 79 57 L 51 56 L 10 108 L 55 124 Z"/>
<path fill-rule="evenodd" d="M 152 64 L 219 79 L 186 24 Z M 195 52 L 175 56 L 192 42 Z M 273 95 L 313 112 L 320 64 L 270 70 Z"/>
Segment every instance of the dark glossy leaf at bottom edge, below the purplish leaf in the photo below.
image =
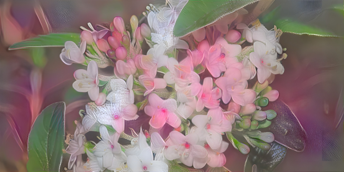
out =
<path fill-rule="evenodd" d="M 286 153 L 287 148 L 277 142 L 272 142 L 269 150 L 253 148 L 247 155 L 244 172 L 251 172 L 253 165 L 257 165 L 257 172 L 272 172 L 286 157 Z"/>

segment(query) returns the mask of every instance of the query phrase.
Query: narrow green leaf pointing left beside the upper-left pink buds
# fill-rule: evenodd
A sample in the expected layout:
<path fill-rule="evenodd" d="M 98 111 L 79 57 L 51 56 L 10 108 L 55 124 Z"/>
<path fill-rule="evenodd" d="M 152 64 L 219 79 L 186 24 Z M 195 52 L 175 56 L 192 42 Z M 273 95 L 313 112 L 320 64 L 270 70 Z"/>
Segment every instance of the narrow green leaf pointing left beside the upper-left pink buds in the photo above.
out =
<path fill-rule="evenodd" d="M 66 41 L 80 42 L 79 33 L 51 33 L 39 35 L 21 42 L 14 43 L 8 50 L 18 50 L 30 47 L 64 47 Z"/>

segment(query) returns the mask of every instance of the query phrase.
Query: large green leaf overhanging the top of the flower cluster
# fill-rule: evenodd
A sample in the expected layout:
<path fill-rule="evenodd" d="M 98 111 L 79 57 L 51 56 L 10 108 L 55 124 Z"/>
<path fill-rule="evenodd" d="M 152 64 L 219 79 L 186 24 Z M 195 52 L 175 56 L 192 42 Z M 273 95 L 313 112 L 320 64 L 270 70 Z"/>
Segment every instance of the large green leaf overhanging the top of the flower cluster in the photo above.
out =
<path fill-rule="evenodd" d="M 258 0 L 189 0 L 175 22 L 174 36 L 184 36 Z"/>

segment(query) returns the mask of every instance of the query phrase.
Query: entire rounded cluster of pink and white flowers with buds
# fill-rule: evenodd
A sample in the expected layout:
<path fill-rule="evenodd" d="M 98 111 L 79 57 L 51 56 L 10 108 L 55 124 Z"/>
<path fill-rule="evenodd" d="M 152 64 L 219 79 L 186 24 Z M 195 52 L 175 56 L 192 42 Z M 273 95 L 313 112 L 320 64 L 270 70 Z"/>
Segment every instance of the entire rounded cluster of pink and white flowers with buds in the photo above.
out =
<path fill-rule="evenodd" d="M 96 29 L 89 23 L 90 30 L 81 27 L 79 47 L 65 43 L 61 60 L 87 65 L 87 70 L 75 71 L 73 88 L 88 92 L 94 101 L 80 112 L 82 120 L 67 148 L 69 169 L 168 171 L 170 162 L 196 169 L 206 164 L 221 167 L 229 146 L 224 135 L 234 148 L 249 152 L 232 129 L 244 131 L 250 146 L 269 148 L 273 134 L 256 129 L 269 126 L 277 115 L 261 107 L 279 96 L 268 84 L 274 74 L 284 72 L 282 32 L 276 27 L 267 30 L 259 20 L 249 26 L 240 23 L 240 9 L 227 22 L 194 31 L 195 46 L 190 48 L 172 34 L 185 3 L 147 6 L 148 25 L 139 26 L 133 15 L 131 32 L 121 17 Z M 141 49 L 144 42 L 150 46 L 147 53 Z M 109 66 L 114 75 L 98 73 Z M 124 132 L 126 123 L 139 120 L 138 114 L 149 116 L 150 128 L 129 135 Z M 169 133 L 162 138 L 166 130 Z M 86 139 L 88 131 L 100 133 L 98 143 Z M 131 144 L 120 143 L 119 138 Z M 88 158 L 83 162 L 80 156 L 85 153 Z"/>

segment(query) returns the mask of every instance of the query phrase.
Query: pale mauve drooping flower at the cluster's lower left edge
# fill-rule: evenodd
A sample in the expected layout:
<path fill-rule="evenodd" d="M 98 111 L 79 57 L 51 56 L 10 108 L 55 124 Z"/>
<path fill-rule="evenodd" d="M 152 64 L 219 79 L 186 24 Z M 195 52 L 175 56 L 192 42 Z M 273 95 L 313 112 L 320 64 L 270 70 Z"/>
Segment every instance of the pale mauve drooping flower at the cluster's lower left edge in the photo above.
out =
<path fill-rule="evenodd" d="M 69 141 L 69 145 L 66 148 L 66 152 L 71 154 L 71 157 L 69 158 L 68 162 L 68 169 L 72 169 L 77 155 L 81 155 L 85 153 L 85 146 L 84 142 L 86 141 L 86 137 L 84 135 L 75 135 L 74 134 L 74 139 Z"/>

